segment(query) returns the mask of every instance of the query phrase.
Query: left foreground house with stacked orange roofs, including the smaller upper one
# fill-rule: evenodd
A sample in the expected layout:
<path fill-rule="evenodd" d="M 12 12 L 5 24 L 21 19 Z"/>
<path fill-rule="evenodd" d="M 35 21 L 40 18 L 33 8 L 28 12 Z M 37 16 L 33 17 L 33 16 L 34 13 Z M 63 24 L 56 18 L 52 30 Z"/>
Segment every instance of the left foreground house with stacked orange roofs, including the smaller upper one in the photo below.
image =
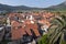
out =
<path fill-rule="evenodd" d="M 20 40 L 25 34 L 24 28 L 18 22 L 11 22 L 11 35 L 12 40 Z"/>

